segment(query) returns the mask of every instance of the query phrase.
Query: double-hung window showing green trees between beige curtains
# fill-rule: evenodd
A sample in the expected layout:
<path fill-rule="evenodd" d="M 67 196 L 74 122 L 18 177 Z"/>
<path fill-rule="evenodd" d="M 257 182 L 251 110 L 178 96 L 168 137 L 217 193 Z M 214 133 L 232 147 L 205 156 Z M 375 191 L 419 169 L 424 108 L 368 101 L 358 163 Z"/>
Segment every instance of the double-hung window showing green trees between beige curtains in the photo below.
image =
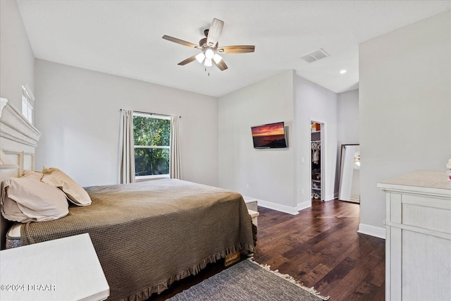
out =
<path fill-rule="evenodd" d="M 171 117 L 133 113 L 135 176 L 169 176 Z"/>

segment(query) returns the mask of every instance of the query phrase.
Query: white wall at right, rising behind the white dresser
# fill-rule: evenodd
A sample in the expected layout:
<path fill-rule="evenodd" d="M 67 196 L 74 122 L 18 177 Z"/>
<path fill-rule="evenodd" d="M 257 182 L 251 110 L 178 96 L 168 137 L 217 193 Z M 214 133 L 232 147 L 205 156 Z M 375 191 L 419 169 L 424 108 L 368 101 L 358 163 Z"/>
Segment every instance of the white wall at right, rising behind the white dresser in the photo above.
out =
<path fill-rule="evenodd" d="M 362 233 L 385 235 L 376 183 L 451 155 L 451 11 L 360 44 Z"/>

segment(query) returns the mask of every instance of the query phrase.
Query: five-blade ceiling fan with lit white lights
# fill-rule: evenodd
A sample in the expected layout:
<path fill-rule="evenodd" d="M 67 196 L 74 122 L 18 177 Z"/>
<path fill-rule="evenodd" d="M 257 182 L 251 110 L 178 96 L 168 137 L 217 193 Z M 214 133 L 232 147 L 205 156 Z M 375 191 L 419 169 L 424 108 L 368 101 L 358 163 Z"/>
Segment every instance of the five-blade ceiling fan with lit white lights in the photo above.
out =
<path fill-rule="evenodd" d="M 202 51 L 195 56 L 190 56 L 189 58 L 181 61 L 178 65 L 184 66 L 187 63 L 197 60 L 199 63 L 204 63 L 204 66 L 206 67 L 212 66 L 214 63 L 221 71 L 223 71 L 228 67 L 223 61 L 222 56 L 219 54 L 245 54 L 248 52 L 254 52 L 255 50 L 255 46 L 253 45 L 219 47 L 218 39 L 223 30 L 223 26 L 223 21 L 214 18 L 213 22 L 211 22 L 210 28 L 204 30 L 205 37 L 199 41 L 199 45 L 183 41 L 183 39 L 177 39 L 176 37 L 170 37 L 168 35 L 163 35 L 163 39 Z"/>

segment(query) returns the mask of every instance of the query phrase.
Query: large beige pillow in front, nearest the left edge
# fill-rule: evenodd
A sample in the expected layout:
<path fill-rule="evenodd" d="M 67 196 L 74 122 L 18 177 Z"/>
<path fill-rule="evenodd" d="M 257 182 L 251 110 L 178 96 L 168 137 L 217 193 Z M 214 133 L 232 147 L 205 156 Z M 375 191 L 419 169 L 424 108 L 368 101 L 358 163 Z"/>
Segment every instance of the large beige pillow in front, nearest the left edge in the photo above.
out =
<path fill-rule="evenodd" d="M 10 221 L 51 221 L 66 216 L 69 204 L 61 190 L 35 178 L 2 183 L 1 214 Z"/>

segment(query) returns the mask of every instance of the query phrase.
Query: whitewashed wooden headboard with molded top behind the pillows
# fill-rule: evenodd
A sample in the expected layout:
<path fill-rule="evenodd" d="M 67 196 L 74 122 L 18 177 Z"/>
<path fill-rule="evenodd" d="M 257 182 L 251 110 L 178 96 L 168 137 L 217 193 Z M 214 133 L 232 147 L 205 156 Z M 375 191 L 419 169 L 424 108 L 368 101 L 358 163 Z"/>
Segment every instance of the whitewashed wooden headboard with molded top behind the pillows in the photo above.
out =
<path fill-rule="evenodd" d="M 0 180 L 20 177 L 35 168 L 35 148 L 41 133 L 11 104 L 0 98 L 0 147 L 16 168 L 1 168 Z M 0 218 L 0 249 L 4 250 L 9 222 Z"/>

